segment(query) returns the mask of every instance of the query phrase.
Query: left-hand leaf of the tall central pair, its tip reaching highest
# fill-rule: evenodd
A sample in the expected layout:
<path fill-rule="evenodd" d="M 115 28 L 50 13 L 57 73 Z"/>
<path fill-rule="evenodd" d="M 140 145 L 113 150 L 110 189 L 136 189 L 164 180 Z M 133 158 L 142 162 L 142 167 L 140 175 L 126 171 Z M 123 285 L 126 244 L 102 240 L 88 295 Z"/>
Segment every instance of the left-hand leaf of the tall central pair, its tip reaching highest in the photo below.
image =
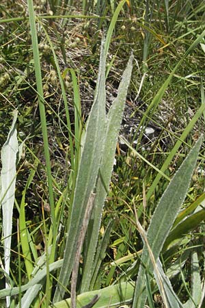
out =
<path fill-rule="evenodd" d="M 68 222 L 68 238 L 64 252 L 64 263 L 59 275 L 54 303 L 64 296 L 64 287 L 68 285 L 72 266 L 77 250 L 77 240 L 83 222 L 85 208 L 90 194 L 94 190 L 96 177 L 100 167 L 102 149 L 105 141 L 105 49 L 102 42 L 100 53 L 100 66 L 96 95 L 90 116 L 87 120 L 85 142 L 83 144 L 79 172 L 72 207 L 70 207 Z M 64 286 L 64 287 L 63 287 Z"/>

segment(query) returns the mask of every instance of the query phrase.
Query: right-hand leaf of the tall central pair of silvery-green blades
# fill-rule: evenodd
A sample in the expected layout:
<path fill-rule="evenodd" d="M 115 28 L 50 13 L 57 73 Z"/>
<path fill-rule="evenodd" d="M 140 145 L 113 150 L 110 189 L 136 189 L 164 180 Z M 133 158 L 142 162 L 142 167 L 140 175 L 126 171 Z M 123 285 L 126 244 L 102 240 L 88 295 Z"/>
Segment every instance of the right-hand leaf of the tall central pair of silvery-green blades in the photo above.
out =
<path fill-rule="evenodd" d="M 105 203 L 105 197 L 109 190 L 109 182 L 113 170 L 113 162 L 115 159 L 115 149 L 120 131 L 120 124 L 124 112 L 124 104 L 128 86 L 131 80 L 133 55 L 131 55 L 126 70 L 122 76 L 122 81 L 118 89 L 118 97 L 116 97 L 111 109 L 109 110 L 107 127 L 105 133 L 105 145 L 102 153 L 102 162 L 100 164 L 100 176 L 98 177 L 96 185 L 96 198 L 94 203 L 94 211 L 92 212 L 92 219 L 90 222 L 90 233 L 88 233 L 87 255 L 85 259 L 85 266 L 83 269 L 83 280 L 81 285 L 81 292 L 89 290 L 90 279 L 93 275 L 93 259 L 94 252 L 98 241 L 98 233 L 100 229 L 100 222 L 102 217 L 102 209 Z M 91 226 L 92 224 L 92 226 Z"/>

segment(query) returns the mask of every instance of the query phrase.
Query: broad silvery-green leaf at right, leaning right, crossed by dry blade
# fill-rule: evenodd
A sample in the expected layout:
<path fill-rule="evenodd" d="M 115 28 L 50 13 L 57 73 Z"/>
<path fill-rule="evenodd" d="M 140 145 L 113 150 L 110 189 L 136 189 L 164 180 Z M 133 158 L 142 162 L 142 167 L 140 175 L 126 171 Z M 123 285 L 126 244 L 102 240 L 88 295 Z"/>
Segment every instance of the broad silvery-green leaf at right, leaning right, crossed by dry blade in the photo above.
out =
<path fill-rule="evenodd" d="M 155 260 L 158 259 L 159 254 L 161 253 L 163 244 L 169 235 L 169 231 L 176 219 L 180 206 L 187 195 L 191 175 L 197 162 L 197 156 L 201 144 L 202 136 L 196 142 L 195 146 L 174 175 L 152 216 L 147 238 Z M 135 286 L 133 308 L 144 308 L 146 303 L 146 270 L 152 272 L 152 264 L 148 248 L 147 246 L 144 246 L 137 283 Z"/>

